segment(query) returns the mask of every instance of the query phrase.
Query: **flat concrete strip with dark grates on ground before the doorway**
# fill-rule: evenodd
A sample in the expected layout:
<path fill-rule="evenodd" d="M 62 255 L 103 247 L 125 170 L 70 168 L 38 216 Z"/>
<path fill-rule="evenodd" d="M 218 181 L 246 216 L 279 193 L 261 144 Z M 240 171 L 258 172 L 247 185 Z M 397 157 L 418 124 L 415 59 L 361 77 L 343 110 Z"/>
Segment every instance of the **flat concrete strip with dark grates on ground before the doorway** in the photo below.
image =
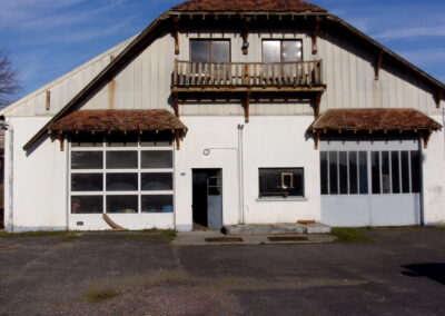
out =
<path fill-rule="evenodd" d="M 319 244 L 332 243 L 332 235 L 243 235 L 227 236 L 216 230 L 179 231 L 171 241 L 174 246 L 211 246 L 211 245 L 278 245 L 278 244 Z"/>

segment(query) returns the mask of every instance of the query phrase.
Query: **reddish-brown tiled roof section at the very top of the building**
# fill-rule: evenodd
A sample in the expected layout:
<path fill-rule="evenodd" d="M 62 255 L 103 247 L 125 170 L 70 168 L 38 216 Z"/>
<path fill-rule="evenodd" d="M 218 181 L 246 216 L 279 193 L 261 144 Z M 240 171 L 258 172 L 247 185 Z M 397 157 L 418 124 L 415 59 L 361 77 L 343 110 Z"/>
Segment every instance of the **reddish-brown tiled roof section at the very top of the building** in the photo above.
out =
<path fill-rule="evenodd" d="M 301 0 L 190 0 L 170 11 L 269 11 L 327 12 Z"/>

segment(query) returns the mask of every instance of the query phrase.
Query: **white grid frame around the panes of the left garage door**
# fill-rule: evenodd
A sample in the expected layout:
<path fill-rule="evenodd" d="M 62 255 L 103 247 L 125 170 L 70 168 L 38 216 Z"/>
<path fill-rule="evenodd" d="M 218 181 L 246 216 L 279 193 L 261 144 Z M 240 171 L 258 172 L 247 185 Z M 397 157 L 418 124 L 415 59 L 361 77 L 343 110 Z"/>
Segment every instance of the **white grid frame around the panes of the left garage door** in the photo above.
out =
<path fill-rule="evenodd" d="M 128 214 L 172 214 L 175 213 L 175 149 L 174 140 L 168 146 L 164 144 L 161 146 L 142 146 L 144 138 L 139 135 L 136 146 L 108 146 L 107 136 L 102 136 L 102 142 L 97 142 L 93 147 L 71 146 L 71 139 L 68 141 L 68 199 L 69 199 L 69 214 L 72 215 L 100 215 L 100 214 L 119 214 L 127 215 L 127 213 L 108 213 L 107 209 L 107 197 L 108 196 L 137 196 L 138 197 L 138 209 L 136 213 Z M 97 169 L 72 169 L 71 168 L 71 154 L 72 152 L 85 152 L 85 151 L 100 151 L 102 152 L 102 168 Z M 131 169 L 108 169 L 107 168 L 107 152 L 110 151 L 137 151 L 137 168 Z M 141 157 L 142 151 L 171 151 L 171 168 L 142 168 Z M 97 191 L 75 191 L 72 190 L 72 175 L 76 174 L 99 174 L 102 175 L 102 190 Z M 107 175 L 108 174 L 137 174 L 137 190 L 107 190 Z M 142 174 L 171 174 L 172 177 L 172 189 L 171 190 L 142 190 L 141 177 Z M 102 198 L 102 213 L 72 213 L 71 197 L 76 196 L 101 196 Z M 142 213 L 142 197 L 144 196 L 171 196 L 172 210 L 166 213 Z"/>

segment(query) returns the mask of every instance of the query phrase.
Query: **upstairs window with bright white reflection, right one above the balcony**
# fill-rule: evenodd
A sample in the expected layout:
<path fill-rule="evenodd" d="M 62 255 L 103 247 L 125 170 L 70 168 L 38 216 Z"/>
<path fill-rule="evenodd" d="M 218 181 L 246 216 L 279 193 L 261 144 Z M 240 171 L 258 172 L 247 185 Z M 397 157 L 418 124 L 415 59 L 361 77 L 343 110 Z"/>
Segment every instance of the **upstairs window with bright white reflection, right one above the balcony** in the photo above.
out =
<path fill-rule="evenodd" d="M 301 40 L 264 40 L 264 62 L 293 62 L 303 60 Z"/>

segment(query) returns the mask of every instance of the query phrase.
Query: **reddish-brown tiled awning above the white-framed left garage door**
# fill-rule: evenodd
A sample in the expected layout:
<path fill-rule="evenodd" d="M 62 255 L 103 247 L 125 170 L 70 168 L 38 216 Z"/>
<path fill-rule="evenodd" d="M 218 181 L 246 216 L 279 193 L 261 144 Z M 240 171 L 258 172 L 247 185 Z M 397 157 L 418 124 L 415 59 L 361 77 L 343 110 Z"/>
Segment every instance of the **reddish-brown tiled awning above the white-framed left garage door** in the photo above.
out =
<path fill-rule="evenodd" d="M 167 110 L 80 110 L 52 122 L 52 131 L 181 130 L 187 127 Z"/>

